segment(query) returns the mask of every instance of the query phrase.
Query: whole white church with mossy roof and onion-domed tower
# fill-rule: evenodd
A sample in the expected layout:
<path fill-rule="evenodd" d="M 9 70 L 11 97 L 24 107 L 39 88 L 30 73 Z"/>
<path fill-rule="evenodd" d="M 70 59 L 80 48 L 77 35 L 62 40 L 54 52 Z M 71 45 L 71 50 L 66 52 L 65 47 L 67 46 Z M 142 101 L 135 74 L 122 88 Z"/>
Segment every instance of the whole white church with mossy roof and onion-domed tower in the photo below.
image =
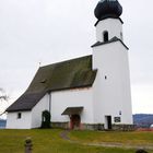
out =
<path fill-rule="evenodd" d="M 40 67 L 25 93 L 8 107 L 7 129 L 39 128 L 44 110 L 50 111 L 52 127 L 132 129 L 122 7 L 118 0 L 99 0 L 94 13 L 92 55 Z"/>

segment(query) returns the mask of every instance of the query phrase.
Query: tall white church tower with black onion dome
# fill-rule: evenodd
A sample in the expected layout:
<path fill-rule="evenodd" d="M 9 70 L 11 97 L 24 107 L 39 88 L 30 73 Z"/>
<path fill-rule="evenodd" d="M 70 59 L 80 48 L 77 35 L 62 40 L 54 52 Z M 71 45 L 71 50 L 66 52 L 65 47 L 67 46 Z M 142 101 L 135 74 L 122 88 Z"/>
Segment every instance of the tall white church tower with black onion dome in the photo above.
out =
<path fill-rule="evenodd" d="M 105 129 L 132 125 L 129 48 L 122 37 L 122 7 L 118 0 L 99 0 L 95 8 L 96 43 L 93 69 L 97 69 L 93 85 L 94 122 Z"/>

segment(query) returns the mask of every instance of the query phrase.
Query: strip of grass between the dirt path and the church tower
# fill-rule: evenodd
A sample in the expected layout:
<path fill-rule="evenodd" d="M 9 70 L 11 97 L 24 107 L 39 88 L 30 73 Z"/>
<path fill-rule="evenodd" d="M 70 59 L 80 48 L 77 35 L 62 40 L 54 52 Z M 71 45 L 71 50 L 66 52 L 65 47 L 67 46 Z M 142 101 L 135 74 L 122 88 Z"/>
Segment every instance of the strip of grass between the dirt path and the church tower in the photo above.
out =
<path fill-rule="evenodd" d="M 117 131 L 72 131 L 71 139 L 81 142 L 107 142 L 107 143 L 122 143 L 129 145 L 152 145 L 153 132 L 117 132 Z"/>

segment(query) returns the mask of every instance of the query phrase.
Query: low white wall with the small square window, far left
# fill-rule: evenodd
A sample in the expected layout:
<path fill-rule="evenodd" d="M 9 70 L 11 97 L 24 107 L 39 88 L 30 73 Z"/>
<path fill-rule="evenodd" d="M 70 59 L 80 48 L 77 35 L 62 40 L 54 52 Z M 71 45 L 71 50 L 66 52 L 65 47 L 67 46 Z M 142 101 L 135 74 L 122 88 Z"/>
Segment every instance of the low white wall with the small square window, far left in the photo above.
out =
<path fill-rule="evenodd" d="M 21 113 L 22 117 L 17 119 L 17 114 Z M 31 129 L 32 114 L 31 111 L 8 113 L 7 115 L 7 129 Z"/>

